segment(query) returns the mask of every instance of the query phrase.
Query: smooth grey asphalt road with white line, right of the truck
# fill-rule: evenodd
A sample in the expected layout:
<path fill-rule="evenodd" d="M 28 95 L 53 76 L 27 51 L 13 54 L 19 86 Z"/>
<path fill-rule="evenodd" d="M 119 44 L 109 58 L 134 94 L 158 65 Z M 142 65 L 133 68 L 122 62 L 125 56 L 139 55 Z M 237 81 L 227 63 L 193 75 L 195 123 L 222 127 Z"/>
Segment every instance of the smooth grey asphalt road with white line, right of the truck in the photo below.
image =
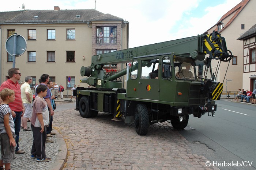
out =
<path fill-rule="evenodd" d="M 190 142 L 194 153 L 204 155 L 215 166 L 217 162 L 221 163 L 219 169 L 255 169 L 255 110 L 255 105 L 219 100 L 214 118 L 208 115 L 200 119 L 189 116 L 186 129 L 194 130 L 182 130 L 180 133 Z M 238 165 L 242 163 L 241 167 L 232 161 Z"/>

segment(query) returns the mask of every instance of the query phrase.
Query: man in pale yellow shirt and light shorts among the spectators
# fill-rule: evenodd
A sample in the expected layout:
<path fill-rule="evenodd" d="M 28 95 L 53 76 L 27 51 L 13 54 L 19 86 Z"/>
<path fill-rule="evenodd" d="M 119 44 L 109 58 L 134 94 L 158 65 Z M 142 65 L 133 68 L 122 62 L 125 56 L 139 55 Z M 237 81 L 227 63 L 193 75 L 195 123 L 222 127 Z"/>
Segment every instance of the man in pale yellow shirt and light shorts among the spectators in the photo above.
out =
<path fill-rule="evenodd" d="M 32 116 L 33 93 L 29 85 L 31 83 L 32 83 L 32 77 L 26 76 L 25 83 L 23 83 L 20 87 L 21 98 L 22 98 L 23 105 L 25 107 L 24 115 L 21 118 L 21 129 L 23 129 L 24 131 L 31 130 L 29 127 L 27 127 L 27 119 L 31 118 Z"/>

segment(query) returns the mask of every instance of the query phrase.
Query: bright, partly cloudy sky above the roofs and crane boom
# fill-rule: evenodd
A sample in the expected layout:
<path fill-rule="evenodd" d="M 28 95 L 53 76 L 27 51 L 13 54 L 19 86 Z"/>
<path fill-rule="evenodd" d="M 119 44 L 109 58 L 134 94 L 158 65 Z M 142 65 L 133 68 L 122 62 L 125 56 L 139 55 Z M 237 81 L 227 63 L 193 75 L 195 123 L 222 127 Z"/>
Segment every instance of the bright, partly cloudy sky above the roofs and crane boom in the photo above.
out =
<path fill-rule="evenodd" d="M 242 0 L 96 0 L 96 10 L 129 21 L 129 48 L 196 36 Z M 95 0 L 12 0 L 0 11 L 95 9 Z"/>

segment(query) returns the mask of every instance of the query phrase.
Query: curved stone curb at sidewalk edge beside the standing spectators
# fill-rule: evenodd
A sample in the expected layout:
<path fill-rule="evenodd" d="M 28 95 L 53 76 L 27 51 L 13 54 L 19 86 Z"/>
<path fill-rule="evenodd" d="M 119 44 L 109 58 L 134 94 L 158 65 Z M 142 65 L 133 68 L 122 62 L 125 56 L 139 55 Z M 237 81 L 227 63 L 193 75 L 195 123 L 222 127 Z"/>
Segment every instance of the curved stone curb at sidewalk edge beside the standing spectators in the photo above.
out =
<path fill-rule="evenodd" d="M 49 169 L 62 170 L 68 155 L 67 145 L 64 141 L 63 136 L 59 134 L 57 130 L 53 129 L 52 131 L 56 133 L 56 139 L 59 145 L 59 153 L 57 154 L 55 161 L 50 165 Z"/>

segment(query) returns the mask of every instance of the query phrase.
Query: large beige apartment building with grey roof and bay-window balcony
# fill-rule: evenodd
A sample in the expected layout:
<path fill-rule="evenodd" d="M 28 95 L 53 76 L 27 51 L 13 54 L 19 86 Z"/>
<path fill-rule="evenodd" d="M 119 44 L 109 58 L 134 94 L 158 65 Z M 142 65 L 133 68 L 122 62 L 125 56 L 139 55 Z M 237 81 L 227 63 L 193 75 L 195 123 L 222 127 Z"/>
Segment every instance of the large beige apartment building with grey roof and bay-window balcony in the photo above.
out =
<path fill-rule="evenodd" d="M 49 74 L 53 83 L 62 84 L 67 95 L 67 89 L 74 84 L 88 86 L 79 83 L 80 68 L 90 66 L 92 55 L 128 48 L 129 22 L 94 9 L 61 10 L 58 6 L 54 10 L 0 12 L 1 83 L 8 78 L 7 71 L 13 65 L 5 42 L 14 33 L 23 36 L 27 43 L 24 54 L 15 60 L 21 80 L 32 76 L 33 88 L 42 74 Z M 121 67 L 106 65 L 104 69 L 115 72 Z"/>

